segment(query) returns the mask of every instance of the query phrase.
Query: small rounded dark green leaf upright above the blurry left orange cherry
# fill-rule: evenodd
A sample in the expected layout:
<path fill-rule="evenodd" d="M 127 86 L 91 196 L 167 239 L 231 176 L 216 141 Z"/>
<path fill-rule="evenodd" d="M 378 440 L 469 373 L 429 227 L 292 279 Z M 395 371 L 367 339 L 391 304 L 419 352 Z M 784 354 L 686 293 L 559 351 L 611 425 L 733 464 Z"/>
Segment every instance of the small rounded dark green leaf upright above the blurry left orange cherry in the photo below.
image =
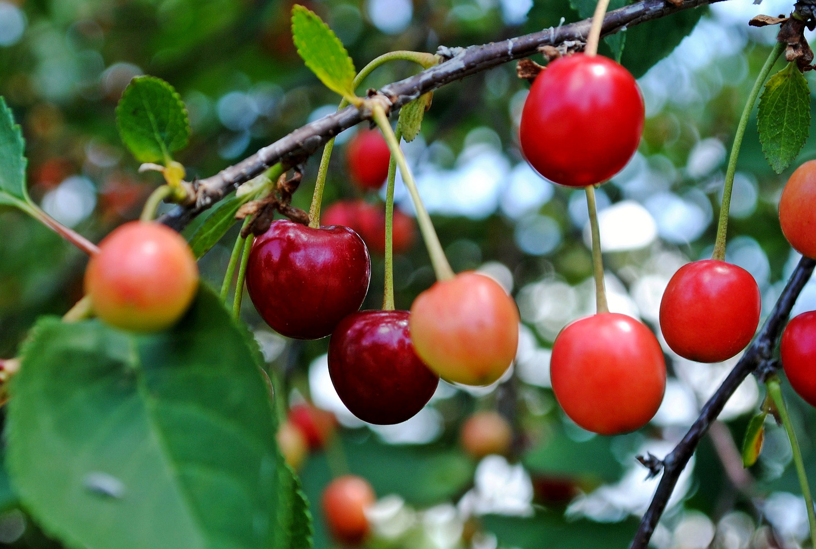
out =
<path fill-rule="evenodd" d="M 125 88 L 116 108 L 122 143 L 139 162 L 170 162 L 187 146 L 187 108 L 173 86 L 161 78 L 140 76 Z"/>

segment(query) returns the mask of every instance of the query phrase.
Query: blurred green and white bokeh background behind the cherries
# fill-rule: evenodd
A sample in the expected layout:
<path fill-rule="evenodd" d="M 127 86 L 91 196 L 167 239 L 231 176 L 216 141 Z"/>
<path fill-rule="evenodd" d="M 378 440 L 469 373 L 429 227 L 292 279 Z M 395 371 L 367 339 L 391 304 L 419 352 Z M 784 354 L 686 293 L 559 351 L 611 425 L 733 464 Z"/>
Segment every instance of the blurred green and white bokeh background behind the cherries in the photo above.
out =
<path fill-rule="evenodd" d="M 433 52 L 440 45 L 489 42 L 579 19 L 566 0 L 304 3 L 335 29 L 358 69 L 385 51 Z M 178 159 L 190 176 L 212 175 L 332 112 L 339 98 L 308 72 L 291 44 L 290 7 L 279 0 L 0 0 L 0 95 L 24 129 L 34 199 L 95 241 L 138 216 L 160 181 L 136 173 L 113 113 L 138 74 L 165 78 L 187 104 L 193 139 Z M 659 331 L 660 297 L 672 273 L 710 256 L 727 150 L 774 41 L 774 29 L 749 29 L 747 21 L 791 8 L 780 0 L 700 8 L 701 17 L 694 24 L 694 16 L 693 30 L 676 49 L 648 71 L 633 69 L 645 97 L 645 135 L 632 162 L 597 192 L 613 311 Z M 663 36 L 630 41 L 624 62 L 639 48 L 658 48 Z M 366 86 L 415 70 L 388 64 Z M 521 341 L 504 379 L 475 389 L 441 383 L 410 421 L 368 426 L 345 410 L 331 386 L 327 340 L 284 339 L 244 300 L 243 318 L 270 370 L 286 384 L 283 396 L 330 410 L 342 425 L 339 446 L 311 454 L 300 471 L 316 516 L 315 547 L 332 547 L 319 498 L 332 473 L 344 468 L 369 479 L 381 498 L 371 515 L 371 547 L 626 547 L 656 482 L 645 480 L 634 456 L 663 457 L 736 360 L 703 365 L 664 348 L 666 397 L 640 432 L 593 436 L 561 413 L 549 388 L 550 348 L 567 322 L 593 312 L 588 216 L 583 191 L 541 179 L 521 157 L 517 129 L 528 87 L 512 64 L 446 86 L 435 93 L 419 138 L 404 144 L 455 270 L 486 272 L 517 300 Z M 341 198 L 381 200 L 364 197 L 348 182 L 344 143 L 353 131 L 337 139 L 325 205 Z M 812 158 L 813 140 L 795 166 Z M 308 208 L 316 171 L 313 158 L 296 206 Z M 756 278 L 763 315 L 798 259 L 778 226 L 786 179 L 787 173 L 775 175 L 767 166 L 753 119 L 734 182 L 727 259 Z M 411 213 L 399 180 L 397 202 Z M 203 276 L 216 286 L 236 235 L 237 227 L 202 259 Z M 382 299 L 383 259 L 373 255 L 372 261 L 364 308 L 378 308 Z M 409 308 L 432 284 L 428 256 L 416 241 L 394 261 L 397 307 Z M 16 354 L 36 317 L 61 314 L 81 296 L 84 262 L 46 228 L 0 208 L 0 356 Z M 794 312 L 811 309 L 816 282 L 805 287 Z M 681 476 L 654 547 L 805 543 L 805 503 L 783 429 L 766 425 L 756 466 L 743 471 L 738 461 L 737 448 L 763 392 L 749 378 L 726 405 Z M 787 394 L 816 482 L 816 414 Z M 477 461 L 460 449 L 459 428 L 475 410 L 491 409 L 512 420 L 517 444 L 508 457 Z M 0 543 L 59 547 L 13 498 L 4 503 Z"/>

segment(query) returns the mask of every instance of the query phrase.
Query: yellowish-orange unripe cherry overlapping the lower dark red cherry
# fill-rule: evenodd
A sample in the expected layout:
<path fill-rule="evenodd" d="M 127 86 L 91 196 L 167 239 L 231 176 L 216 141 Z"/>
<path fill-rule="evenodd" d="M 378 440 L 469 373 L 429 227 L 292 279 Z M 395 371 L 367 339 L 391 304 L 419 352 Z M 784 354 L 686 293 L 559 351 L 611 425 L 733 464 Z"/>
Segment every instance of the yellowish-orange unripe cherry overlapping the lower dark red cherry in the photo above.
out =
<path fill-rule="evenodd" d="M 518 308 L 490 277 L 471 271 L 437 281 L 410 312 L 414 348 L 442 379 L 489 385 L 516 356 Z"/>

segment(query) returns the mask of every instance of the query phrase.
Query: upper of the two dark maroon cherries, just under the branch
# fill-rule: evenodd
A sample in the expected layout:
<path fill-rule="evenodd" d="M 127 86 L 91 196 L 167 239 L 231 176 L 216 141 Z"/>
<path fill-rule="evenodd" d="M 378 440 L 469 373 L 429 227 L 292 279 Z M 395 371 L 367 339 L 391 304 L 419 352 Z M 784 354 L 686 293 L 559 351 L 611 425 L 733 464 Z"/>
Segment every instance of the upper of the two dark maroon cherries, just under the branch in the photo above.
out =
<path fill-rule="evenodd" d="M 370 272 L 366 245 L 350 228 L 278 219 L 252 245 L 246 289 L 273 330 L 319 339 L 360 308 Z"/>

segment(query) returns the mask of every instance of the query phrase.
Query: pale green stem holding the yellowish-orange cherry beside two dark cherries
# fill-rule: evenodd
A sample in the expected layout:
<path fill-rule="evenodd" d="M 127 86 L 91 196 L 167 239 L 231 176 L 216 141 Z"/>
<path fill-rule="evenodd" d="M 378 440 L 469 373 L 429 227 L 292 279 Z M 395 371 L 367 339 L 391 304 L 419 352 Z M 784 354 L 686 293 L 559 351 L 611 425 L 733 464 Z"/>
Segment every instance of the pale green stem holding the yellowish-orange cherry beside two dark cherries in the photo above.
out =
<path fill-rule="evenodd" d="M 402 149 L 397 142 L 397 136 L 391 129 L 391 124 L 388 122 L 388 117 L 385 116 L 385 110 L 379 103 L 372 102 L 371 113 L 374 115 L 374 120 L 379 126 L 379 131 L 383 132 L 388 148 L 391 150 L 392 159 L 397 161 L 397 166 L 400 167 L 402 174 L 402 181 L 406 184 L 411 200 L 414 201 L 414 209 L 416 210 L 416 220 L 419 224 L 419 232 L 422 233 L 422 238 L 425 241 L 425 246 L 428 248 L 428 255 L 431 256 L 431 263 L 433 265 L 433 272 L 437 275 L 438 281 L 449 280 L 453 278 L 454 270 L 450 268 L 450 263 L 445 257 L 445 251 L 442 250 L 442 245 L 439 242 L 437 231 L 433 228 L 431 216 L 428 215 L 428 210 L 422 203 L 422 198 L 419 197 L 419 191 L 414 182 L 414 175 L 411 174 L 406 157 L 402 154 Z"/>

